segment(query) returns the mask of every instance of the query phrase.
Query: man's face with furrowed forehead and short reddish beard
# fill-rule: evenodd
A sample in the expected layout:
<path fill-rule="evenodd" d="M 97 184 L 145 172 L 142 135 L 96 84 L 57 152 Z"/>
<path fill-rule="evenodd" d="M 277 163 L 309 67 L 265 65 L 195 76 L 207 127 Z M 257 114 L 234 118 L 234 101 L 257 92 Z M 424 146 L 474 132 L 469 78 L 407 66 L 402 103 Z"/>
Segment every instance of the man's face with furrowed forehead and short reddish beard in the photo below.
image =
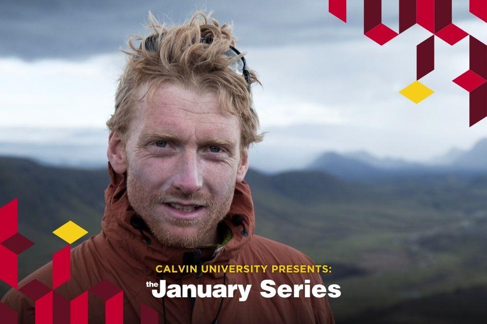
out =
<path fill-rule="evenodd" d="M 159 88 L 131 121 L 125 154 L 129 201 L 160 242 L 217 243 L 248 165 L 238 117 L 219 108 L 216 94 Z"/>

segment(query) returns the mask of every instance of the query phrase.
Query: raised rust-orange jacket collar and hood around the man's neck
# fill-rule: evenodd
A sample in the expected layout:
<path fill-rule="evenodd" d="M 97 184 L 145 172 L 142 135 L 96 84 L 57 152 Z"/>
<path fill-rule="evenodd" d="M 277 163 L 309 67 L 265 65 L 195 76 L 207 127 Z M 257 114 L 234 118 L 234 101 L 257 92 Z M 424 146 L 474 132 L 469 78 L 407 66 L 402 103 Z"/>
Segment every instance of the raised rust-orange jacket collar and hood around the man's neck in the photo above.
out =
<path fill-rule="evenodd" d="M 209 252 L 205 251 L 206 249 L 211 249 L 211 253 L 215 251 L 215 246 L 178 248 L 158 242 L 129 203 L 126 173 L 116 173 L 110 162 L 108 171 L 111 181 L 105 190 L 102 232 L 120 259 L 130 268 L 136 268 L 149 275 L 155 273 L 157 265 L 184 265 L 188 264 L 188 256 L 192 258 L 196 252 L 201 256 L 202 252 Z M 231 230 L 232 238 L 216 250 L 216 255 L 208 261 L 211 264 L 231 263 L 230 260 L 244 249 L 254 234 L 254 207 L 250 188 L 245 181 L 236 183 L 230 211 L 223 222 Z"/>

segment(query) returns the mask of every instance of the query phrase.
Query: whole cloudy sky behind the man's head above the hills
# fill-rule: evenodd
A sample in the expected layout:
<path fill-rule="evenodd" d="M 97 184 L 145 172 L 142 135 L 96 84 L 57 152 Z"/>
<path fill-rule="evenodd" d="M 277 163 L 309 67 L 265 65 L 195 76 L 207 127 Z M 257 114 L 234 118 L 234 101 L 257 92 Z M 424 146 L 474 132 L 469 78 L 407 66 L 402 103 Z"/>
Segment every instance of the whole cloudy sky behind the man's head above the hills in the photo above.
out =
<path fill-rule="evenodd" d="M 363 1 L 349 2 L 344 23 L 325 0 L 1 1 L 0 153 L 105 162 L 127 37 L 145 33 L 149 10 L 177 23 L 203 8 L 233 21 L 262 80 L 253 91 L 268 133 L 252 149 L 256 168 L 301 167 L 323 151 L 429 161 L 487 137 L 487 120 L 468 127 L 468 93 L 451 82 L 468 70 L 468 38 L 435 39 L 435 71 L 421 80 L 435 93 L 416 105 L 398 92 L 415 80 L 415 48 L 430 34 L 414 26 L 379 46 L 363 35 Z M 398 1 L 384 2 L 383 22 L 397 30 Z M 487 43 L 468 1 L 453 4 L 453 22 Z"/>

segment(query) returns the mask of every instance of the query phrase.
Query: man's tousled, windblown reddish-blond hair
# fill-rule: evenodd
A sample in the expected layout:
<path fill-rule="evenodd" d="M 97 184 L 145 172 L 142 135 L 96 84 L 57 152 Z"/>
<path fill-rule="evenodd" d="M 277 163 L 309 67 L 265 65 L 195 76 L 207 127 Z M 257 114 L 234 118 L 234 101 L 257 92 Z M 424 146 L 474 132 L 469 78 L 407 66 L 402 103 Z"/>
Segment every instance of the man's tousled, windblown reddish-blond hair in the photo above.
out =
<path fill-rule="evenodd" d="M 159 24 L 149 13 L 147 36 L 130 37 L 127 64 L 120 76 L 115 93 L 115 112 L 107 126 L 126 141 L 129 123 L 136 113 L 136 102 L 149 98 L 164 83 L 174 84 L 187 90 L 213 91 L 219 98 L 220 107 L 239 117 L 241 126 L 241 151 L 252 143 L 262 141 L 258 134 L 259 118 L 253 107 L 252 95 L 243 75 L 230 69 L 239 60 L 225 52 L 235 46 L 232 27 L 197 12 L 183 25 L 166 27 Z M 211 39 L 210 44 L 201 37 Z M 135 38 L 135 40 L 134 40 Z M 134 44 L 136 42 L 136 45 Z M 140 46 L 139 46 L 140 44 Z M 259 83 L 255 72 L 250 71 L 250 83 Z M 140 97 L 140 91 L 145 93 Z"/>

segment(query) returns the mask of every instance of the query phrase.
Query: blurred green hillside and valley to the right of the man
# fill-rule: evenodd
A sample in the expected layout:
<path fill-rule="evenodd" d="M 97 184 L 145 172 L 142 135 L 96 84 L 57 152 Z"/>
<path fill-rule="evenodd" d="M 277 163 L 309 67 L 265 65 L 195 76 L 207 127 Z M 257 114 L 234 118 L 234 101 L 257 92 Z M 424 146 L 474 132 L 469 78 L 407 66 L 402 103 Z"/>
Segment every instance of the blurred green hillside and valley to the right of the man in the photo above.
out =
<path fill-rule="evenodd" d="M 371 311 L 487 285 L 487 177 L 436 174 L 358 185 L 300 172 L 284 179 L 290 177 L 249 174 L 257 233 L 333 266 L 323 280 L 342 288 L 331 300 L 338 319 L 357 323 Z M 269 182 L 280 186 L 262 190 Z M 380 323 L 396 323 L 387 315 L 389 322 Z M 426 323 L 409 319 L 397 323 Z"/>

